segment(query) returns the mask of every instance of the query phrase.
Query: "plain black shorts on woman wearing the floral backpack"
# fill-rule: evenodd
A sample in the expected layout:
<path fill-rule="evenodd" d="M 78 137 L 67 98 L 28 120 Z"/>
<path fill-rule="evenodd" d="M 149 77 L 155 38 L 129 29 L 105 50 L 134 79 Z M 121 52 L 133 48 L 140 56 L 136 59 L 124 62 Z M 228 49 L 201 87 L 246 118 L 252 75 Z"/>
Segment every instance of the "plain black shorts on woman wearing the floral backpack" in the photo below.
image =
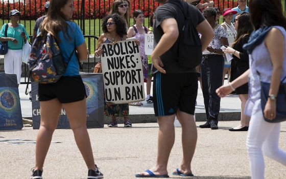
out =
<path fill-rule="evenodd" d="M 86 92 L 81 76 L 63 76 L 56 83 L 39 83 L 38 95 L 39 101 L 58 98 L 61 103 L 70 103 L 83 100 Z"/>

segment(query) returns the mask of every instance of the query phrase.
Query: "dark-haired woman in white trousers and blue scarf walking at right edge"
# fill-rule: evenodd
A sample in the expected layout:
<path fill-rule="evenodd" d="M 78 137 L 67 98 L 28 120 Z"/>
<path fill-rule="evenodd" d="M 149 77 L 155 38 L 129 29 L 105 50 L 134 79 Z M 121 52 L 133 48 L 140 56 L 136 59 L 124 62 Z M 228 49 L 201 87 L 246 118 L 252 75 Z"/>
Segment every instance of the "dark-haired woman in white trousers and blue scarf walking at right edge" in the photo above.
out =
<path fill-rule="evenodd" d="M 280 123 L 268 123 L 264 117 L 276 117 L 276 96 L 280 81 L 286 76 L 286 18 L 280 1 L 251 0 L 249 10 L 255 31 L 244 49 L 249 54 L 250 69 L 228 85 L 217 89 L 220 97 L 249 81 L 245 114 L 251 116 L 247 149 L 251 178 L 264 178 L 263 154 L 286 166 L 286 152 L 279 149 Z M 260 102 L 260 80 L 270 83 L 264 111 Z"/>

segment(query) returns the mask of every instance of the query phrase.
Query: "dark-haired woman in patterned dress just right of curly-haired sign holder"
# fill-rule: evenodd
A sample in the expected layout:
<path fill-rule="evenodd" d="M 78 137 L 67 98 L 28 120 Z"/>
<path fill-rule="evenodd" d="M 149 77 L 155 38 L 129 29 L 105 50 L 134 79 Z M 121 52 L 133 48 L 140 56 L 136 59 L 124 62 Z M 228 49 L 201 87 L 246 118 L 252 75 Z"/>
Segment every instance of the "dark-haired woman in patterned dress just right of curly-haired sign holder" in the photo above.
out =
<path fill-rule="evenodd" d="M 148 57 L 145 55 L 145 50 L 144 50 L 144 40 L 145 40 L 145 34 L 149 32 L 149 29 L 145 26 L 143 26 L 144 23 L 144 14 L 140 10 L 135 10 L 133 12 L 133 18 L 135 21 L 135 25 L 130 27 L 127 31 L 127 37 L 135 37 L 137 40 L 140 41 L 140 56 L 142 60 L 142 67 L 143 67 L 143 77 L 144 77 L 144 82 L 147 82 L 148 79 Z M 130 105 L 134 106 L 140 106 L 143 105 L 141 102 L 134 102 L 130 103 Z"/>

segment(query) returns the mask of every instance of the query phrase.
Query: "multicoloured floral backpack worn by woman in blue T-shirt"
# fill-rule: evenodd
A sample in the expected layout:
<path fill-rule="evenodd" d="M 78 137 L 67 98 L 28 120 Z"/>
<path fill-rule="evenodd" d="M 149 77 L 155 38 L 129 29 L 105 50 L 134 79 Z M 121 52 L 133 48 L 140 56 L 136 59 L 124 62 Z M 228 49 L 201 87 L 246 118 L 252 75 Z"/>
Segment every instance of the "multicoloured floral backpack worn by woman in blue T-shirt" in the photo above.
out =
<path fill-rule="evenodd" d="M 70 54 L 68 61 L 74 54 Z M 65 62 L 56 38 L 47 33 L 46 37 L 40 34 L 35 38 L 28 60 L 29 79 L 37 83 L 55 83 L 65 72 Z M 28 85 L 27 85 L 28 87 Z M 26 89 L 27 93 L 27 89 Z"/>

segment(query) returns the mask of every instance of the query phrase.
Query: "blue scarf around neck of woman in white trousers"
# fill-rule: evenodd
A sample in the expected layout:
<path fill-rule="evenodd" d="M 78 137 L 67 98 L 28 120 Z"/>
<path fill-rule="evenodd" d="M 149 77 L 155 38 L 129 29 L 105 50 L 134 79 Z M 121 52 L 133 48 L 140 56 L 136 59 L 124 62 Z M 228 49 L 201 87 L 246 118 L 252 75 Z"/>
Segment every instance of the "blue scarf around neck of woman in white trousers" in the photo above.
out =
<path fill-rule="evenodd" d="M 251 54 L 253 49 L 258 46 L 265 39 L 267 33 L 273 28 L 273 26 L 265 26 L 253 31 L 249 37 L 249 40 L 244 44 L 243 49 Z"/>

